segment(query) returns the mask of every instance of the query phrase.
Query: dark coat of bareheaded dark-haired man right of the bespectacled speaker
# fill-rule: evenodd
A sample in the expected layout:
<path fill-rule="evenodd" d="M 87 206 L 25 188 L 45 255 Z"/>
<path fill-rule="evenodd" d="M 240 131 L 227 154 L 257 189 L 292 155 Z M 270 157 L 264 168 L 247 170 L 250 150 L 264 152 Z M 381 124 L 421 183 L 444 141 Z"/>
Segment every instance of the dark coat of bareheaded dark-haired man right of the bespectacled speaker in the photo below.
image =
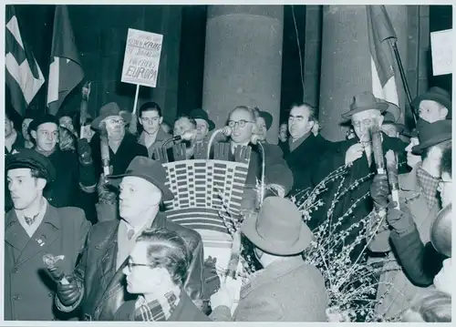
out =
<path fill-rule="evenodd" d="M 332 142 L 312 133 L 292 152 L 290 152 L 289 143 L 284 142 L 285 161 L 295 179 L 294 194 L 299 190 L 313 188 L 312 174 L 314 169 L 318 167 L 319 159 L 332 145 Z"/>

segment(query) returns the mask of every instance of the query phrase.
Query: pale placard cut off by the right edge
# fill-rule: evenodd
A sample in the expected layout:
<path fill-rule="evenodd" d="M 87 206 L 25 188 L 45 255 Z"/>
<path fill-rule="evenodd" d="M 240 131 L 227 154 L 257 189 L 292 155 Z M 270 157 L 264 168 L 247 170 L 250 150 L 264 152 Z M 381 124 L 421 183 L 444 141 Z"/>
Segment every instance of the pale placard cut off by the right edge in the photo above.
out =
<path fill-rule="evenodd" d="M 430 33 L 433 76 L 452 73 L 454 36 L 452 29 Z"/>

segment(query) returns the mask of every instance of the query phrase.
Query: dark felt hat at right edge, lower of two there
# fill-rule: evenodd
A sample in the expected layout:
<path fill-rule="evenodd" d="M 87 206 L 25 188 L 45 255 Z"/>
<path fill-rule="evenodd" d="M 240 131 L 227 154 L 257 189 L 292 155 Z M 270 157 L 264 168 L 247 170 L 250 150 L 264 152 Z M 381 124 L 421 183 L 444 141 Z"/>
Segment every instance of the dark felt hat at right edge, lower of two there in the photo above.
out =
<path fill-rule="evenodd" d="M 420 155 L 425 148 L 436 146 L 451 139 L 451 120 L 439 120 L 421 128 L 418 134 L 420 144 L 411 148 L 412 153 Z"/>

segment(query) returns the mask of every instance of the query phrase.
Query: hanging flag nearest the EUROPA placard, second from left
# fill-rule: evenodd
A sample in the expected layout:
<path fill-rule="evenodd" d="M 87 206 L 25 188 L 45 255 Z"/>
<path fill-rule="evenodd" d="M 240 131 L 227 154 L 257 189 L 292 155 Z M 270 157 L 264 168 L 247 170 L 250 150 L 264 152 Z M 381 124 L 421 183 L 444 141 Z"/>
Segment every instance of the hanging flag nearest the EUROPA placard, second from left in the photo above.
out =
<path fill-rule="evenodd" d="M 56 5 L 47 85 L 49 114 L 56 115 L 65 97 L 84 78 L 67 5 Z"/>

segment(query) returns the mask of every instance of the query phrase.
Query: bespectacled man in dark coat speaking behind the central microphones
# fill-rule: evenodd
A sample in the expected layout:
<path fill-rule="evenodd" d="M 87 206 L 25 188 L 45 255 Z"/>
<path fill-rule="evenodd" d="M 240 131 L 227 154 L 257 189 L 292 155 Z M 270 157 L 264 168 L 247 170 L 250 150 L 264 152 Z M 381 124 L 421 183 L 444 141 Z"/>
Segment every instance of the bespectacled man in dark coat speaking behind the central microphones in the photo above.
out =
<path fill-rule="evenodd" d="M 293 174 L 286 165 L 282 150 L 273 144 L 258 144 L 256 138 L 257 126 L 254 110 L 250 107 L 235 107 L 228 117 L 228 127 L 231 129 L 228 143 L 230 144 L 230 160 L 233 160 L 237 147 L 252 147 L 249 170 L 245 180 L 243 209 L 255 209 L 257 179 L 262 178 L 262 164 L 264 160 L 264 184 L 275 192 L 275 195 L 285 197 L 293 186 Z M 264 158 L 262 153 L 264 148 Z"/>

